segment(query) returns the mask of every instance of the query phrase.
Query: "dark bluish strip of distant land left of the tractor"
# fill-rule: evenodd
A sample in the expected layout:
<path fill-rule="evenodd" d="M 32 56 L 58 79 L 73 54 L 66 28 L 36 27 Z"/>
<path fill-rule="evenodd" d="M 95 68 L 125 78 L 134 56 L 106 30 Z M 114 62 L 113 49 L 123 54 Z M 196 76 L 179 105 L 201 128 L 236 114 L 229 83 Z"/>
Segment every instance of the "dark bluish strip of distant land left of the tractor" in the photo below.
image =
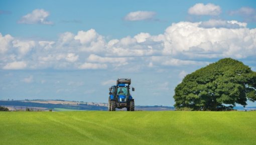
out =
<path fill-rule="evenodd" d="M 13 105 L 13 106 L 30 106 L 30 107 L 46 107 L 46 108 L 66 108 L 78 110 L 107 110 L 106 106 L 98 105 L 71 105 L 71 104 L 53 104 L 53 103 L 39 103 L 39 102 L 24 102 L 17 100 L 0 100 L 0 105 Z"/>

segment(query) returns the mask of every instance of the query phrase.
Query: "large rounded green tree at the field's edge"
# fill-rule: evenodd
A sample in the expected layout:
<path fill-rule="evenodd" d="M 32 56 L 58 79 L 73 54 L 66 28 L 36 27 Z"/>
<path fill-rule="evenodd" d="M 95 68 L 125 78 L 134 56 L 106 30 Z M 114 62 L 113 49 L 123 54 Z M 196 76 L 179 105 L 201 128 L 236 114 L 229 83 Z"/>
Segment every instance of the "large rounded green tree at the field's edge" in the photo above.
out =
<path fill-rule="evenodd" d="M 242 62 L 223 58 L 184 77 L 175 88 L 177 109 L 224 110 L 256 100 L 256 72 Z M 227 107 L 228 106 L 228 107 Z"/>

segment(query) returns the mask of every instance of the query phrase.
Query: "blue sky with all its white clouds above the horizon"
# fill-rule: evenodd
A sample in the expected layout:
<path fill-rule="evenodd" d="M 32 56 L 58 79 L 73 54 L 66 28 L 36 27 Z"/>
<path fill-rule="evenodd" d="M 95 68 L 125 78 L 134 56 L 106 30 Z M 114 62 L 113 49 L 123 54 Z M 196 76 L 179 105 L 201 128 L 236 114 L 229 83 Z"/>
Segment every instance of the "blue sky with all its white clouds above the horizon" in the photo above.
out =
<path fill-rule="evenodd" d="M 107 102 L 131 78 L 136 105 L 173 106 L 225 57 L 256 71 L 255 0 L 0 0 L 0 99 Z"/>

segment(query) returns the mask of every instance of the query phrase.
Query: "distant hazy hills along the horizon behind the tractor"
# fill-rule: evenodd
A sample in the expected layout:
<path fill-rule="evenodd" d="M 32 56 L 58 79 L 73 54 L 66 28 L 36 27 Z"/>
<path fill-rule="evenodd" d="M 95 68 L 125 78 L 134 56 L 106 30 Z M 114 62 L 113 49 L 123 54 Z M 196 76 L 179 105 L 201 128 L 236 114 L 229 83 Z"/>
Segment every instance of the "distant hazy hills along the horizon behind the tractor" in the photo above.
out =
<path fill-rule="evenodd" d="M 11 110 L 24 110 L 27 107 L 34 110 L 107 110 L 107 103 L 67 101 L 67 100 L 0 100 L 0 105 L 7 106 Z M 135 107 L 136 110 L 174 110 L 172 106 L 141 106 Z M 124 109 L 118 109 L 124 110 Z"/>

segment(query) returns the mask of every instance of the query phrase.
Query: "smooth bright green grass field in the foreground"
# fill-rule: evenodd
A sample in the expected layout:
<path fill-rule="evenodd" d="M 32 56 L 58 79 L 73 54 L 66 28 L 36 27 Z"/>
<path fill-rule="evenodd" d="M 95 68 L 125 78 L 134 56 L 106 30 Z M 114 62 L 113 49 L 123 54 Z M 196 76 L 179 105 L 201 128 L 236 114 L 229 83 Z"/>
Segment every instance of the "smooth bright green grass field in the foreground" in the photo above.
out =
<path fill-rule="evenodd" d="M 256 111 L 0 112 L 0 144 L 256 144 Z"/>

